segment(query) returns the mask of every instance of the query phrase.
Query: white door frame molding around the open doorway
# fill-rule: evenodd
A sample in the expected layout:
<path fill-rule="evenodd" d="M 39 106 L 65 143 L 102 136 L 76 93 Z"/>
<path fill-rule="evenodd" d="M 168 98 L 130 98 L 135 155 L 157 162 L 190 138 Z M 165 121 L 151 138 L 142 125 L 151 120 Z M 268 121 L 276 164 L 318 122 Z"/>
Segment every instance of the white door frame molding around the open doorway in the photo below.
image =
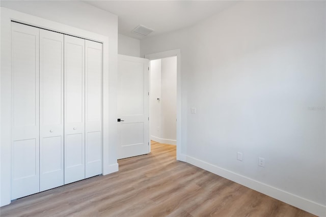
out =
<path fill-rule="evenodd" d="M 145 54 L 145 58 L 149 60 L 161 59 L 165 57 L 177 57 L 177 160 L 186 161 L 185 150 L 182 150 L 182 140 L 181 140 L 181 50 L 167 50 L 158 53 Z M 150 65 L 150 62 L 149 62 Z M 183 153 L 182 153 L 183 152 Z"/>

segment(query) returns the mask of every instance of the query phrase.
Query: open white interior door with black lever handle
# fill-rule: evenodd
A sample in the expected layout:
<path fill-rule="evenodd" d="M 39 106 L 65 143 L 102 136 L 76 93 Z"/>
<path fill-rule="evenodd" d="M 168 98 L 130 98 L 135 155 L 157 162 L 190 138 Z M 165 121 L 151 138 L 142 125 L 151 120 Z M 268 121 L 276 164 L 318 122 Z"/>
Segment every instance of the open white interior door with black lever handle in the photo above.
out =
<path fill-rule="evenodd" d="M 118 55 L 118 159 L 149 152 L 148 59 Z"/>

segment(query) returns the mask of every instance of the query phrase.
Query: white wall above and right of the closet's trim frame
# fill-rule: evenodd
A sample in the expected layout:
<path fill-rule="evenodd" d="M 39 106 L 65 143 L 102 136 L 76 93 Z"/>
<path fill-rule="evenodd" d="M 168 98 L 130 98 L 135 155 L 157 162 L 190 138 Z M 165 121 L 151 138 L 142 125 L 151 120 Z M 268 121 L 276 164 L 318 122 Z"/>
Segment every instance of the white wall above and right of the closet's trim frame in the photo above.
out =
<path fill-rule="evenodd" d="M 104 60 L 104 64 L 108 63 L 108 73 L 103 72 L 104 83 L 108 83 L 108 85 L 103 86 L 103 90 L 105 90 L 104 96 L 108 96 L 108 102 L 104 100 L 103 105 L 103 108 L 106 108 L 106 111 L 103 111 L 104 118 L 108 120 L 103 122 L 103 129 L 106 129 L 103 135 L 105 140 L 108 140 L 108 144 L 105 144 L 108 149 L 103 152 L 103 158 L 108 162 L 108 165 L 112 165 L 111 172 L 116 171 L 118 169 L 116 153 L 118 17 L 79 1 L 1 1 L 1 6 L 108 37 L 109 51 L 106 60 Z M 52 26 L 48 27 L 52 28 Z M 6 105 L 2 104 L 2 111 L 4 106 Z M 107 114 L 108 116 L 105 116 Z M 1 139 L 3 141 L 3 135 Z M 2 165 L 4 165 L 3 162 Z M 8 201 L 7 193 L 5 196 L 3 193 L 8 192 L 6 183 L 8 178 L 10 180 L 10 177 L 7 177 L 7 173 L 4 173 L 3 170 L 1 174 L 1 204 L 3 205 Z M 6 176 L 3 174 L 6 174 Z"/>

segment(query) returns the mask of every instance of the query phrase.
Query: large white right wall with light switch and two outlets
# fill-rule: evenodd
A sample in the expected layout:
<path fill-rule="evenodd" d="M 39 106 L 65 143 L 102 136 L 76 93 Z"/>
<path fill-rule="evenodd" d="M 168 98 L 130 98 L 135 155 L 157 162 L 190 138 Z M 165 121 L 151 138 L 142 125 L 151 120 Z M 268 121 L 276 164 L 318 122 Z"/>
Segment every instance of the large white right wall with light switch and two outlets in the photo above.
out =
<path fill-rule="evenodd" d="M 240 2 L 141 41 L 181 49 L 187 162 L 326 214 L 325 18 L 325 2 Z"/>

